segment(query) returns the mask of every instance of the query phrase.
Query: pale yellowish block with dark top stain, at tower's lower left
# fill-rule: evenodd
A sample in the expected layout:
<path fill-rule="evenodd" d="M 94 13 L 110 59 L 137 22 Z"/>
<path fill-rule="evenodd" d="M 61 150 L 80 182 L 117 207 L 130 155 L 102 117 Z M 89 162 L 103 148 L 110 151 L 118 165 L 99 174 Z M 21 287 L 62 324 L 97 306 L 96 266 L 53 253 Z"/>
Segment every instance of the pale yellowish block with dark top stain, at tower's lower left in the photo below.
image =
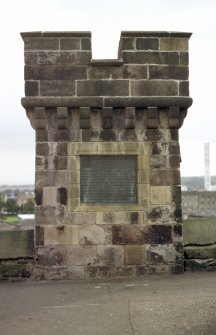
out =
<path fill-rule="evenodd" d="M 78 226 L 44 226 L 44 245 L 78 245 Z"/>

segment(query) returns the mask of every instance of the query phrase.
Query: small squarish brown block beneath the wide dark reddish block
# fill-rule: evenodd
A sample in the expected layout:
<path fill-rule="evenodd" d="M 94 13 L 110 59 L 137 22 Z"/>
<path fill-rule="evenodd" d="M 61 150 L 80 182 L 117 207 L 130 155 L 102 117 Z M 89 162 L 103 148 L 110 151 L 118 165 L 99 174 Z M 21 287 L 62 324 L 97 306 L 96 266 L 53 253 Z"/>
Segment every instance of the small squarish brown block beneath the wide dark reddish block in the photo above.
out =
<path fill-rule="evenodd" d="M 125 264 L 139 265 L 145 262 L 145 252 L 143 245 L 125 246 Z"/>

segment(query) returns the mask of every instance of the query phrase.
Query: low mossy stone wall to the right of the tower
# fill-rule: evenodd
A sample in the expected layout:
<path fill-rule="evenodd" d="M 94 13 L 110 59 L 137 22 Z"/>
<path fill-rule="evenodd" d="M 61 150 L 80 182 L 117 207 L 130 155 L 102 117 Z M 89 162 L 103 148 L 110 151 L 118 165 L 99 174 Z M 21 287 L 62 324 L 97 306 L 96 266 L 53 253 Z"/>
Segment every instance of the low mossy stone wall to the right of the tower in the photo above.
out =
<path fill-rule="evenodd" d="M 216 270 L 216 218 L 184 222 L 185 271 Z"/>

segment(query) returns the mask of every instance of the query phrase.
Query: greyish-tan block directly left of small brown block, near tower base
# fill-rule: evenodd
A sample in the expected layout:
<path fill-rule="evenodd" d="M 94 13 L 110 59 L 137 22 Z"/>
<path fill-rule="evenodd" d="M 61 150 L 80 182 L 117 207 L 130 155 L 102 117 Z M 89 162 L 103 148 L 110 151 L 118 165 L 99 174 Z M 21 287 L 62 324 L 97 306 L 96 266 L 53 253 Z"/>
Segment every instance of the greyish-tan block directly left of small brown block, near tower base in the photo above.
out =
<path fill-rule="evenodd" d="M 98 245 L 97 262 L 100 265 L 123 265 L 124 247 L 119 245 Z"/>

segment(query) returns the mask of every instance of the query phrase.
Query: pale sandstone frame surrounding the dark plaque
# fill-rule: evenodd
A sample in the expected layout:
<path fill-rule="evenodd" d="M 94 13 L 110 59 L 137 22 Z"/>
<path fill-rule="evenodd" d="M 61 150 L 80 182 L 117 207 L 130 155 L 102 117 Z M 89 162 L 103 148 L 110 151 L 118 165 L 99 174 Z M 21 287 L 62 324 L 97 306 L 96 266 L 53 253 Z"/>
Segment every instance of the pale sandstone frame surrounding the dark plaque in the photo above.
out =
<path fill-rule="evenodd" d="M 128 146 L 128 142 L 120 143 L 80 143 L 74 146 L 73 143 L 68 145 L 68 151 L 70 154 L 75 155 L 68 156 L 68 160 L 73 161 L 73 166 L 76 166 L 74 170 L 68 170 L 69 180 L 69 205 L 70 211 L 121 211 L 121 210 L 139 210 L 141 211 L 144 204 L 148 202 L 149 198 L 149 152 L 148 145 L 144 143 L 133 143 Z M 134 155 L 137 157 L 137 204 L 84 204 L 80 203 L 80 156 L 85 155 L 101 155 L 101 156 L 112 156 L 112 155 Z M 70 162 L 68 166 L 70 166 Z M 71 182 L 72 179 L 72 182 Z M 76 190 L 76 192 L 74 192 Z M 76 196 L 75 196 L 76 195 Z"/>

